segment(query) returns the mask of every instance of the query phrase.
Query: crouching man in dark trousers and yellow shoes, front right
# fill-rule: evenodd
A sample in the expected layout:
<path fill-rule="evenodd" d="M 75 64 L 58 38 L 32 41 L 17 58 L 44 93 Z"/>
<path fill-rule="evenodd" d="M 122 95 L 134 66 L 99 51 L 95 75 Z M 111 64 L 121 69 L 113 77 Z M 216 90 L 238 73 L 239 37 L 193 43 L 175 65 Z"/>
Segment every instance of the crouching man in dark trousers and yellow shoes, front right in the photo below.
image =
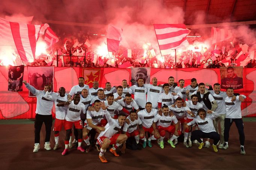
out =
<path fill-rule="evenodd" d="M 198 112 L 198 115 L 193 119 L 193 121 L 187 123 L 185 125 L 185 128 L 188 128 L 188 126 L 191 126 L 193 124 L 197 124 L 200 130 L 194 130 L 192 132 L 191 139 L 192 140 L 196 139 L 199 142 L 198 149 L 202 149 L 204 145 L 201 138 L 209 138 L 209 139 L 213 139 L 212 148 L 214 152 L 218 152 L 216 145 L 220 141 L 220 135 L 216 132 L 212 122 L 213 119 L 219 116 L 218 113 L 215 113 L 211 110 L 207 110 L 208 114 L 206 114 L 205 109 L 198 109 L 197 112 Z"/>

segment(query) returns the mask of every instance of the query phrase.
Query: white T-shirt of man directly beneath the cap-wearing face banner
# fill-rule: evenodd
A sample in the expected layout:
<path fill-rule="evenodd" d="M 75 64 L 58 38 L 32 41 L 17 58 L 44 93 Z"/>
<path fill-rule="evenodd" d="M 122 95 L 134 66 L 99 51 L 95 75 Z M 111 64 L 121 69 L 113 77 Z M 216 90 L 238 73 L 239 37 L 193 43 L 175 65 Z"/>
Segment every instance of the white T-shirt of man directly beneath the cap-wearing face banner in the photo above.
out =
<path fill-rule="evenodd" d="M 137 85 L 131 86 L 131 89 L 133 90 L 134 94 L 134 100 L 138 104 L 140 108 L 146 107 L 146 94 L 147 94 L 147 88 L 146 87 L 138 87 Z"/>

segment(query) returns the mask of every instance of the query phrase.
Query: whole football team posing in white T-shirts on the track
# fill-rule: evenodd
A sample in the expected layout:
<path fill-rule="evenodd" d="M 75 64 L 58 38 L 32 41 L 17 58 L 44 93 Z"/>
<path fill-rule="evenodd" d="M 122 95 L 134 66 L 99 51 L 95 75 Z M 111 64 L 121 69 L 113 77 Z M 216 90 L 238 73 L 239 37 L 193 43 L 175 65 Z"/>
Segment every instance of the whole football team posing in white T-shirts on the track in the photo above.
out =
<path fill-rule="evenodd" d="M 229 130 L 234 122 L 239 133 L 238 151 L 245 155 L 241 102 L 246 97 L 234 93 L 233 87 L 228 86 L 234 83 L 230 80 L 225 91 L 221 91 L 222 82 L 208 84 L 192 78 L 190 85 L 185 86 L 184 79 L 175 80 L 172 75 L 166 83 L 159 84 L 157 77 L 149 81 L 147 70 L 139 68 L 132 76 L 134 85 L 131 86 L 130 80 L 125 79 L 120 80 L 119 86 L 107 82 L 99 87 L 99 82 L 93 81 L 92 88 L 84 82 L 80 77 L 78 85 L 71 89 L 63 86 L 53 92 L 52 83 L 39 90 L 23 81 L 37 98 L 33 152 L 40 149 L 43 123 L 44 149 L 48 151 L 53 147 L 50 137 L 54 130 L 54 150 L 62 149 L 62 155 L 67 155 L 71 148 L 79 152 L 97 149 L 102 163 L 107 163 L 104 157 L 107 150 L 116 157 L 125 154 L 126 149 L 164 149 L 167 145 L 171 148 L 211 147 L 212 152 L 218 152 L 218 149 L 229 148 Z M 62 129 L 66 136 L 60 136 Z M 64 138 L 65 148 L 60 144 Z M 157 142 L 152 145 L 152 140 Z"/>

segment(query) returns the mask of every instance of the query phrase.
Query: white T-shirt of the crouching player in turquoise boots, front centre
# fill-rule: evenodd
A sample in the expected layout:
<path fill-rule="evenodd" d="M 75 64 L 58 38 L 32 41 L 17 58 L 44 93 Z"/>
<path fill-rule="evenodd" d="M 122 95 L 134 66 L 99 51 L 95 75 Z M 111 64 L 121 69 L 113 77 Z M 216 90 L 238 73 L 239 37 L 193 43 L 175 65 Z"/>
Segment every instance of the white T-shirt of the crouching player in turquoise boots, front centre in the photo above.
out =
<path fill-rule="evenodd" d="M 157 115 L 157 109 L 152 109 L 150 113 L 146 109 L 140 110 L 137 114 L 142 121 L 142 126 L 145 128 L 150 128 L 152 126 L 155 115 Z"/>

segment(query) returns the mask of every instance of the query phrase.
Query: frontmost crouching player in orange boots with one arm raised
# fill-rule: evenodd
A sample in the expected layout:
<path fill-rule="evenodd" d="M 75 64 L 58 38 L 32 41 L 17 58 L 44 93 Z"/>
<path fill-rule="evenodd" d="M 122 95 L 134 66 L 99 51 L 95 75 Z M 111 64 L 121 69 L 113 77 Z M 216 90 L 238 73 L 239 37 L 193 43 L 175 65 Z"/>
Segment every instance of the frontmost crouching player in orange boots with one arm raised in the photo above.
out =
<path fill-rule="evenodd" d="M 104 102 L 101 103 L 101 108 L 103 110 L 107 109 Z M 127 140 L 126 134 L 118 133 L 125 123 L 125 114 L 120 113 L 117 119 L 113 119 L 110 116 L 110 113 L 104 112 L 105 117 L 107 118 L 107 125 L 105 126 L 105 130 L 101 131 L 97 138 L 98 144 L 101 146 L 101 151 L 99 152 L 99 159 L 102 163 L 107 163 L 106 158 L 104 157 L 104 152 L 106 152 L 109 145 L 114 145 L 113 148 L 110 149 L 110 152 L 114 154 L 116 157 L 119 155 L 116 153 L 116 148 Z"/>

